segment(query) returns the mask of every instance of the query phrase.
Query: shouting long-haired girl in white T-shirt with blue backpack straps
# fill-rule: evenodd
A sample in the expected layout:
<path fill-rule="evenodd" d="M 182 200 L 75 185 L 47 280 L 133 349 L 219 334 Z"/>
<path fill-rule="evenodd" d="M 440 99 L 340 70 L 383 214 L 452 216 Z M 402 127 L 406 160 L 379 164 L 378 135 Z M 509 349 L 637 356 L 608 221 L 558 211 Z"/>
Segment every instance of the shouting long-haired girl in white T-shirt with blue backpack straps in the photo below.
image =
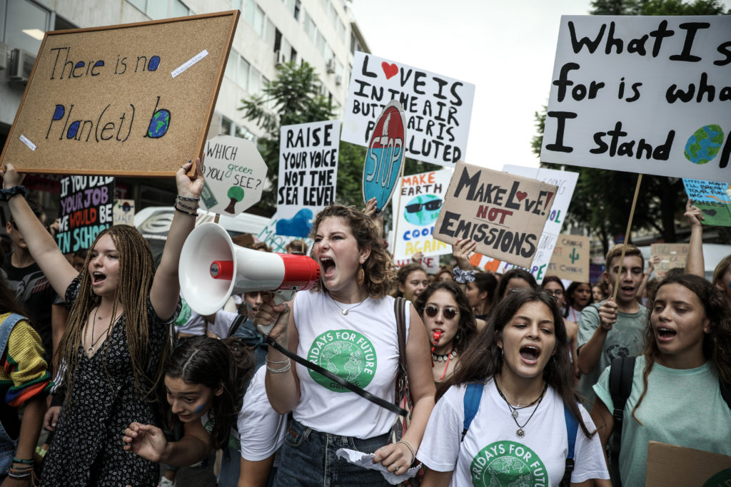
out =
<path fill-rule="evenodd" d="M 422 485 L 557 486 L 572 415 L 572 485 L 608 486 L 602 445 L 575 396 L 565 343 L 564 321 L 551 296 L 535 289 L 508 293 L 439 389 L 443 394 L 418 454 L 427 468 Z M 482 385 L 476 404 L 465 398 L 469 383 Z M 469 405 L 477 407 L 464 432 Z"/>

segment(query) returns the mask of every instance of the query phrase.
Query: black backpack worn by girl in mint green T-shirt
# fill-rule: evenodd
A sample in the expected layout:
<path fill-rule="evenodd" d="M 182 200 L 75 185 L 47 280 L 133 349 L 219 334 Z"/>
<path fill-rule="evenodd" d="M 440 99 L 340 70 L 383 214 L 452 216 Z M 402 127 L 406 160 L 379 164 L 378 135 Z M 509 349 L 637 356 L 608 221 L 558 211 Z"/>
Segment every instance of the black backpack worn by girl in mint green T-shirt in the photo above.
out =
<path fill-rule="evenodd" d="M 619 476 L 619 450 L 622 446 L 622 422 L 624 421 L 624 407 L 632 393 L 632 381 L 635 377 L 635 361 L 637 357 L 618 357 L 612 360 L 609 366 L 609 394 L 614 403 L 614 426 L 612 434 L 607 442 L 607 458 L 609 459 L 609 473 L 612 477 L 612 485 L 621 487 L 622 480 Z M 719 377 L 721 397 L 731 409 L 731 386 L 724 383 Z"/>

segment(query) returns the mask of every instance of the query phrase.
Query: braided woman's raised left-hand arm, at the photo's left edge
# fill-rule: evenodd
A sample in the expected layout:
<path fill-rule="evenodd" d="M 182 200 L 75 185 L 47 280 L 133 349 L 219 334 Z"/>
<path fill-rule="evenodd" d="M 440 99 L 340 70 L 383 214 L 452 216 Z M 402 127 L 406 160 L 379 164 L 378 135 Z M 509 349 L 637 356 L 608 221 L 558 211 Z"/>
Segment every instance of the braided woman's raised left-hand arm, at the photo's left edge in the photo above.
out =
<path fill-rule="evenodd" d="M 3 177 L 4 190 L 12 191 L 15 188 L 14 196 L 6 196 L 6 198 L 10 198 L 7 200 L 8 207 L 10 207 L 15 225 L 18 226 L 18 231 L 28 245 L 31 256 L 40 266 L 53 289 L 59 296 L 64 296 L 66 289 L 78 272 L 69 264 L 51 234 L 36 218 L 33 210 L 28 206 L 25 196 L 18 192 L 18 187 L 23 184 L 25 175 L 18 173 L 12 164 L 7 164 L 4 170 L 0 170 L 0 176 Z"/>

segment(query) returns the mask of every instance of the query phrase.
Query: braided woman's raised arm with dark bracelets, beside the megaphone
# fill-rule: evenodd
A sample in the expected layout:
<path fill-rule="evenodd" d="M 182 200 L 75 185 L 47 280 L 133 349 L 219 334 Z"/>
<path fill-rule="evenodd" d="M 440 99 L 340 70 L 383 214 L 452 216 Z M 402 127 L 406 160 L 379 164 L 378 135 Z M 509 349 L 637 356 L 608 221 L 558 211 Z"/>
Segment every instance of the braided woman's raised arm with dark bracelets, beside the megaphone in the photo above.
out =
<path fill-rule="evenodd" d="M 175 173 L 178 199 L 175 200 L 174 204 L 173 223 L 170 223 L 170 231 L 167 233 L 160 265 L 155 272 L 155 279 L 150 290 L 152 307 L 163 320 L 170 318 L 175 312 L 175 307 L 178 306 L 178 294 L 180 292 L 178 265 L 180 264 L 181 250 L 185 239 L 195 226 L 198 201 L 200 192 L 203 189 L 200 159 L 195 161 L 196 173 L 193 178 L 186 175 L 191 164 L 192 162 L 183 164 Z"/>

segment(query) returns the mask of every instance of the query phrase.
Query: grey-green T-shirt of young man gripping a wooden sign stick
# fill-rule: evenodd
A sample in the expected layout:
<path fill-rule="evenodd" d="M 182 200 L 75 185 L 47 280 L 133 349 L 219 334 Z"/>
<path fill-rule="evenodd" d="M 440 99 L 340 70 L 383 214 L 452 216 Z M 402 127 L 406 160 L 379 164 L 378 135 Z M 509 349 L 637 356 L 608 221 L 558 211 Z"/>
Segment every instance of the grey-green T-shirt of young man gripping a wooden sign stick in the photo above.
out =
<path fill-rule="evenodd" d="M 581 355 L 581 347 L 594 336 L 594 331 L 599 328 L 599 306 L 600 303 L 590 304 L 583 309 L 579 318 L 579 332 L 577 337 L 577 346 L 579 348 L 579 356 Z M 643 353 L 645 348 L 645 326 L 647 326 L 647 308 L 640 304 L 637 312 L 618 312 L 617 322 L 610 331 L 607 332 L 607 339 L 602 348 L 602 355 L 599 356 L 599 362 L 591 372 L 582 375 L 579 380 L 578 391 L 585 399 L 584 407 L 591 411 L 594 405 L 594 391 L 592 386 L 599 380 L 599 375 L 604 369 L 610 366 L 613 359 L 619 357 L 637 356 Z"/>

